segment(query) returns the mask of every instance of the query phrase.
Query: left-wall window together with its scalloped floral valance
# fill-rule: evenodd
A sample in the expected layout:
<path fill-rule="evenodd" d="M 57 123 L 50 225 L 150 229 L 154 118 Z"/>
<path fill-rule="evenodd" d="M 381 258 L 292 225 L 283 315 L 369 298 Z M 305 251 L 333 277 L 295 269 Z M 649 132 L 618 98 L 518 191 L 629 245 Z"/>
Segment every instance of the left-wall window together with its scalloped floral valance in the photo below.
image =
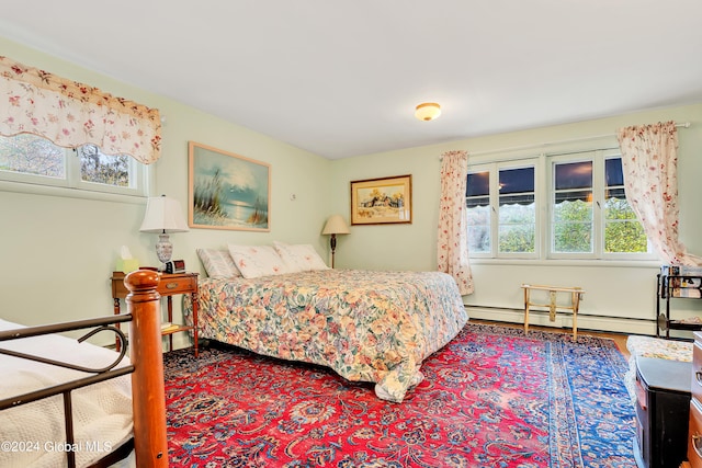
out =
<path fill-rule="evenodd" d="M 0 96 L 0 181 L 146 195 L 143 165 L 160 156 L 157 109 L 3 56 Z"/>

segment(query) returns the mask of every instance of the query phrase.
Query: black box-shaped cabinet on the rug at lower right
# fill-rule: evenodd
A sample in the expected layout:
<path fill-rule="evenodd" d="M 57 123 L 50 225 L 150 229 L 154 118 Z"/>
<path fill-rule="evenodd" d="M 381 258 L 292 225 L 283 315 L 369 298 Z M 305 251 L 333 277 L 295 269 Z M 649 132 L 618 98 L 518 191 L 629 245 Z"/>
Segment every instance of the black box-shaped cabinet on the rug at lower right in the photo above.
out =
<path fill-rule="evenodd" d="M 686 459 L 691 363 L 636 358 L 636 436 L 639 468 L 679 467 Z"/>

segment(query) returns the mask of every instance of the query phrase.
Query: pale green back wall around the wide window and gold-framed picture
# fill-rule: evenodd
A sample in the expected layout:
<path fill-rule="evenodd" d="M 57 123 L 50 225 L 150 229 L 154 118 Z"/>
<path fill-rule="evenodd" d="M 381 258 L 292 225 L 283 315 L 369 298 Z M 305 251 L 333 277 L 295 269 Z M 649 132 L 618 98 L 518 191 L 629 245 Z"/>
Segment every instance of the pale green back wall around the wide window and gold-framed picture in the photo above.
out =
<path fill-rule="evenodd" d="M 443 117 L 442 117 L 443 118 Z M 332 210 L 349 216 L 350 182 L 412 174 L 411 225 L 352 226 L 339 240 L 337 266 L 370 270 L 433 270 L 437 266 L 437 225 L 440 156 L 467 150 L 471 162 L 535 156 L 542 152 L 616 147 L 615 130 L 655 122 L 689 122 L 679 129 L 680 239 L 691 253 L 702 254 L 702 104 L 632 113 L 577 124 L 558 125 L 408 148 L 335 161 L 331 167 Z M 431 123 L 430 123 L 431 125 Z M 480 260 L 472 263 L 475 293 L 465 297 L 474 318 L 521 321 L 522 283 L 580 286 L 587 290 L 580 327 L 654 333 L 658 262 Z M 546 300 L 547 303 L 547 300 Z M 699 313 L 701 301 L 679 300 L 680 317 Z M 570 327 L 570 319 L 550 323 Z"/>

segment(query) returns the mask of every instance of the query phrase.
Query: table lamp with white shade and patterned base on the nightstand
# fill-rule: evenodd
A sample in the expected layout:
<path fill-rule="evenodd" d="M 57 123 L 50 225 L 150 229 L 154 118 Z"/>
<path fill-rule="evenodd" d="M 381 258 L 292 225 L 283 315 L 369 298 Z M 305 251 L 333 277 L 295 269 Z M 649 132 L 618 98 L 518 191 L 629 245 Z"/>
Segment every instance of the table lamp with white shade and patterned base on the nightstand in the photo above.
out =
<path fill-rule="evenodd" d="M 173 244 L 169 233 L 186 232 L 189 230 L 180 203 L 166 195 L 151 197 L 146 205 L 146 214 L 141 222 L 141 232 L 158 233 L 156 242 L 156 255 L 161 262 L 161 271 L 166 270 L 166 263 L 171 261 Z"/>

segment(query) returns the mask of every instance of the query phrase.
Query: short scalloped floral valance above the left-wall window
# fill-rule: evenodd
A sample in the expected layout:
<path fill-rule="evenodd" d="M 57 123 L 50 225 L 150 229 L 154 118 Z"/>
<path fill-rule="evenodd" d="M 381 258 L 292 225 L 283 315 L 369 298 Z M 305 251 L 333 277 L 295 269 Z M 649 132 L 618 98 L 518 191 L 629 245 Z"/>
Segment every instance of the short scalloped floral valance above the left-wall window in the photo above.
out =
<path fill-rule="evenodd" d="M 94 144 L 145 164 L 161 150 L 158 110 L 0 56 L 0 135 L 23 133 L 65 148 Z"/>

